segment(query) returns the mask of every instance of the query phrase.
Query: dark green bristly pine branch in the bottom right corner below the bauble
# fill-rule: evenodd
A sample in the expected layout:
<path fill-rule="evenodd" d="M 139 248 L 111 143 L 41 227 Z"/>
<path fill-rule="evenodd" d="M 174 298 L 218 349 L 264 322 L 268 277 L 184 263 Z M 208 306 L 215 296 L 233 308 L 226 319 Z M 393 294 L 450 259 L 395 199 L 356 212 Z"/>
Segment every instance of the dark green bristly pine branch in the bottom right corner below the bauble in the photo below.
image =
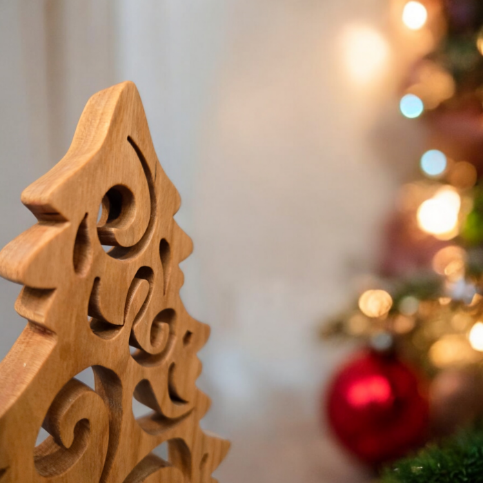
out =
<path fill-rule="evenodd" d="M 382 473 L 381 483 L 483 483 L 483 428 L 431 444 Z"/>

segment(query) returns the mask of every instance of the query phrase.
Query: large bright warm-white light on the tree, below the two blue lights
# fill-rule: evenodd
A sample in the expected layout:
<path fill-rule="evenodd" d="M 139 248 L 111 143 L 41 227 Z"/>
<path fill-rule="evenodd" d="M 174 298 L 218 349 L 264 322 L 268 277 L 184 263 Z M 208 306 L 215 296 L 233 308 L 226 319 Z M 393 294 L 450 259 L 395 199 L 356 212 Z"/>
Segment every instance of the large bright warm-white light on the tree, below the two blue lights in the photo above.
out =
<path fill-rule="evenodd" d="M 417 210 L 417 224 L 431 235 L 446 239 L 455 236 L 460 215 L 461 198 L 451 186 L 444 186 Z"/>

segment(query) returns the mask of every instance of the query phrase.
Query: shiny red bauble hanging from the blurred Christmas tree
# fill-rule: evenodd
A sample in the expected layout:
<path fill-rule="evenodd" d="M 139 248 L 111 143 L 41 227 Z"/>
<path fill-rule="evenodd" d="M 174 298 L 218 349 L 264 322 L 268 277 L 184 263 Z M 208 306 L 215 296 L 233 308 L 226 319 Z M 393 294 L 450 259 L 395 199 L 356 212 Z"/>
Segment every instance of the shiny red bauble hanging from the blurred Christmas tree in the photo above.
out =
<path fill-rule="evenodd" d="M 340 442 L 368 464 L 402 457 L 426 437 L 424 384 L 394 355 L 357 355 L 335 376 L 324 406 Z"/>

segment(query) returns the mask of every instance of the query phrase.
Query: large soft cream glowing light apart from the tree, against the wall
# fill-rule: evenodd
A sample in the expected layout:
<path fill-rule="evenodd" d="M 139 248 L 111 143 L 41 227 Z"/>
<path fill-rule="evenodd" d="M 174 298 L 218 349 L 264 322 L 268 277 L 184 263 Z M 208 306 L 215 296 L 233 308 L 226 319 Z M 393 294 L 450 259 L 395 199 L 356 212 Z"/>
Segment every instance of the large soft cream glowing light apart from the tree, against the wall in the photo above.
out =
<path fill-rule="evenodd" d="M 344 63 L 358 85 L 373 81 L 384 70 L 389 46 L 382 34 L 370 26 L 354 24 L 343 34 Z"/>

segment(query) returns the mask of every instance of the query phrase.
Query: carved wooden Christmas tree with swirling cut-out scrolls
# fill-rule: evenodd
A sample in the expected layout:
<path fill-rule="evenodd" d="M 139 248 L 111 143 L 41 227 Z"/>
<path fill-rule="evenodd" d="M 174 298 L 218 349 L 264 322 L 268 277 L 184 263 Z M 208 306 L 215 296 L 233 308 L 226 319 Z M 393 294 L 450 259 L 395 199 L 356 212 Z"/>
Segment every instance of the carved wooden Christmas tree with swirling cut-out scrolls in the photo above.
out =
<path fill-rule="evenodd" d="M 133 83 L 88 101 L 21 199 L 39 222 L 0 253 L 28 319 L 0 364 L 0 483 L 214 481 L 229 444 L 199 427 L 209 327 L 179 297 L 192 243 Z M 95 391 L 75 379 L 88 367 Z M 152 413 L 136 419 L 132 397 Z M 163 442 L 168 461 L 152 453 Z"/>

